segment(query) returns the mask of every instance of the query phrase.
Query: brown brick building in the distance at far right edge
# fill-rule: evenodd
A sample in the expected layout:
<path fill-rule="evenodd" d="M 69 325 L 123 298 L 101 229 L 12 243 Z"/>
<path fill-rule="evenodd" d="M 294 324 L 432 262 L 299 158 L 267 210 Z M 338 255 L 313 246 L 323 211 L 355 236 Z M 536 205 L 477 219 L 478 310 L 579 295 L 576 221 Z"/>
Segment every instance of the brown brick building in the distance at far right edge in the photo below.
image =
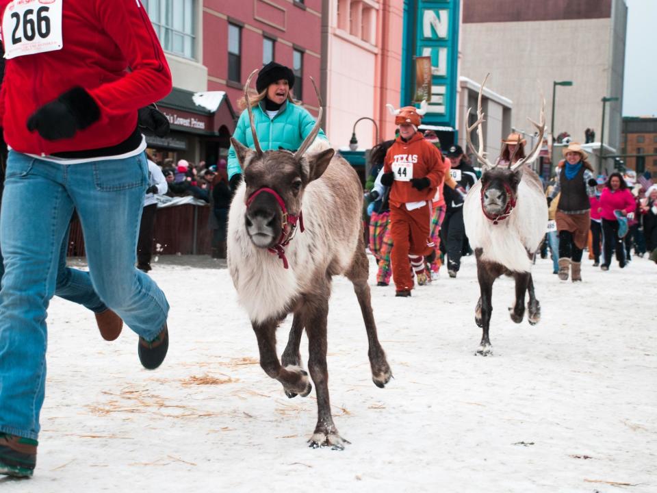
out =
<path fill-rule="evenodd" d="M 636 173 L 649 171 L 657 178 L 657 118 L 623 117 L 623 154 L 626 168 Z M 636 154 L 636 156 L 633 156 Z"/>

